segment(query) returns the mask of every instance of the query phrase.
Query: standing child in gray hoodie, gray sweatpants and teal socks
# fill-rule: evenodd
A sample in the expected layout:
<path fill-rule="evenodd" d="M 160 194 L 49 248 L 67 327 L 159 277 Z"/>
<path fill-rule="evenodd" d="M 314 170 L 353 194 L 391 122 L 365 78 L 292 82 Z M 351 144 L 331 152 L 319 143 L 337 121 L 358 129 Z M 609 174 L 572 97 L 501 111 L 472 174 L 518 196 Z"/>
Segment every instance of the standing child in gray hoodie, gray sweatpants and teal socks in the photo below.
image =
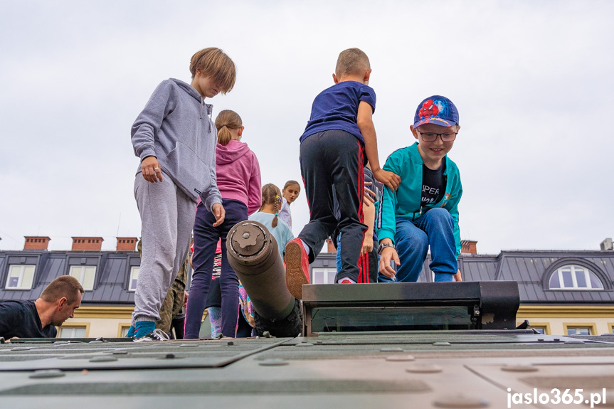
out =
<path fill-rule="evenodd" d="M 219 48 L 190 60 L 191 84 L 164 80 L 132 125 L 132 146 L 141 163 L 134 197 L 141 215 L 142 258 L 128 336 L 158 341 L 154 332 L 166 292 L 186 259 L 199 196 L 216 218 L 225 211 L 216 186 L 213 106 L 204 103 L 235 84 L 235 64 Z"/>

